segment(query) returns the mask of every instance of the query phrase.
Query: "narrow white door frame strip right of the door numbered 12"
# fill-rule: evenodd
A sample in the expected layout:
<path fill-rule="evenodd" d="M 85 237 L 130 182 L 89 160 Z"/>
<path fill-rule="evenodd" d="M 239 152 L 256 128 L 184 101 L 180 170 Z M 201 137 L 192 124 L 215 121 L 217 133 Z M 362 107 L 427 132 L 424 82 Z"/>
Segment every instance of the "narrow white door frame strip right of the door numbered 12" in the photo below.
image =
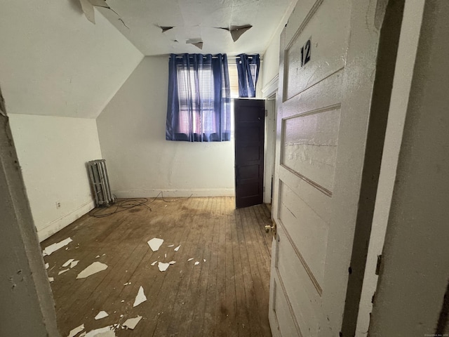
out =
<path fill-rule="evenodd" d="M 404 125 L 409 105 L 410 91 L 424 22 L 424 1 L 406 1 L 403 12 L 401 36 L 398 44 L 396 71 L 391 92 L 387 131 L 380 169 L 380 181 L 375 201 L 373 230 L 368 246 L 365 275 L 358 308 L 356 333 L 372 329 L 373 299 L 378 291 L 378 274 L 382 272 L 382 251 L 390 218 L 391 200 L 396 184 L 399 153 L 403 141 Z M 422 79 L 424 81 L 424 79 Z M 381 263 L 382 261 L 382 263 Z M 374 318 L 377 318 L 373 315 Z M 371 322 L 370 322 L 371 321 Z M 357 335 L 358 336 L 358 335 Z"/>

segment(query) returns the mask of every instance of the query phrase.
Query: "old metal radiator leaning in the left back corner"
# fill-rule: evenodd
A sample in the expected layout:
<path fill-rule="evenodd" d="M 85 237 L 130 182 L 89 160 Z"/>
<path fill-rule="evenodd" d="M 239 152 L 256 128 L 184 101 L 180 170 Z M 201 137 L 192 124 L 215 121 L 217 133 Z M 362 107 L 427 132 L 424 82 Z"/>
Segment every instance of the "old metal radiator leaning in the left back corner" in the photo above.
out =
<path fill-rule="evenodd" d="M 95 197 L 95 206 L 110 206 L 115 199 L 112 195 L 111 187 L 109 187 L 105 159 L 89 161 L 87 167 L 93 196 Z"/>

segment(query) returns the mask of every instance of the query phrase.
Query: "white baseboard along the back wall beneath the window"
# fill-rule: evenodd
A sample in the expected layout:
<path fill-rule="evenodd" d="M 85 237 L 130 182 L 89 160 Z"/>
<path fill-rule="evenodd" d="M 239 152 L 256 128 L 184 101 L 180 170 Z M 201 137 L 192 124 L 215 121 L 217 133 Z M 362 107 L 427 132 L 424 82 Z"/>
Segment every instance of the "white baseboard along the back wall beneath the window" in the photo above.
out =
<path fill-rule="evenodd" d="M 128 190 L 112 191 L 117 198 L 154 198 L 161 197 L 234 197 L 234 188 L 176 188 L 176 189 L 154 189 L 154 190 Z"/>

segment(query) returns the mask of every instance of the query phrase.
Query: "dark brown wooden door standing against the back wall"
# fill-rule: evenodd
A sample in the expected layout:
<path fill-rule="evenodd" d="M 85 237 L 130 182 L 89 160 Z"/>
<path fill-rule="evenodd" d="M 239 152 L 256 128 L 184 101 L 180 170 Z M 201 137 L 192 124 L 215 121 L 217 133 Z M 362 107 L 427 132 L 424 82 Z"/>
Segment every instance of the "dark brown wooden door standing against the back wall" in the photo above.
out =
<path fill-rule="evenodd" d="M 236 208 L 263 202 L 264 100 L 234 100 Z"/>

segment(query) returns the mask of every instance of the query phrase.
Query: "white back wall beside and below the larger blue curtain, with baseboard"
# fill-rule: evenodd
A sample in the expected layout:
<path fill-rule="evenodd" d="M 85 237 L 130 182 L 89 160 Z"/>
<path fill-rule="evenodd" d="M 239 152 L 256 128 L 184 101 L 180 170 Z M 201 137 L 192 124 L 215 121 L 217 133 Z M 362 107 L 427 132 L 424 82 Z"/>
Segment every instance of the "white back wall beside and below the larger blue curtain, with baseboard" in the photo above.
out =
<path fill-rule="evenodd" d="M 165 139 L 168 58 L 145 57 L 97 119 L 117 197 L 234 195 L 234 142 Z"/>

